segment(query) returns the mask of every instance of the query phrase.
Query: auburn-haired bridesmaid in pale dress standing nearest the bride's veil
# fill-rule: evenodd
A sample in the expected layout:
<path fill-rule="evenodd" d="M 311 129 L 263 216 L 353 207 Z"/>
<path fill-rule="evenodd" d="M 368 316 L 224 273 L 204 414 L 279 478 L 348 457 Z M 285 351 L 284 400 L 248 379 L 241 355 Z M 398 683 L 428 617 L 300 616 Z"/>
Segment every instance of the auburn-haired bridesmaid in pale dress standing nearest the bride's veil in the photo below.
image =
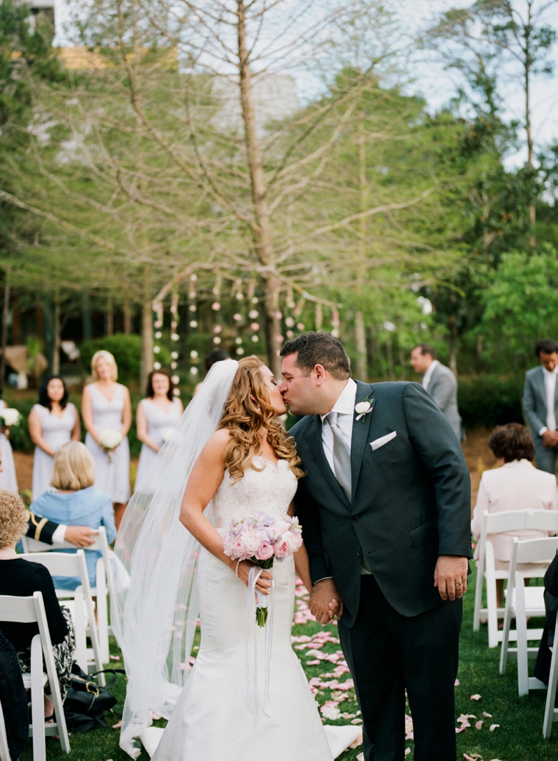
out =
<path fill-rule="evenodd" d="M 136 425 L 142 452 L 139 455 L 136 486 L 141 485 L 155 456 L 164 444 L 164 434 L 174 428 L 183 412 L 182 402 L 174 396 L 174 384 L 167 370 L 154 370 L 147 381 L 147 399 L 142 399 L 136 413 Z"/>

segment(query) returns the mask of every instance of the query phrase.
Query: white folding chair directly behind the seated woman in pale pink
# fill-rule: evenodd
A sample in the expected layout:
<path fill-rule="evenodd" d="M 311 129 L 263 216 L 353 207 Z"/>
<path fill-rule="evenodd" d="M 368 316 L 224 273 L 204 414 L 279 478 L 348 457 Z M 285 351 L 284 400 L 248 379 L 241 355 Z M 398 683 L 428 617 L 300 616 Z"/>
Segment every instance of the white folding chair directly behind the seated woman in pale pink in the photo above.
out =
<path fill-rule="evenodd" d="M 527 616 L 544 616 L 544 587 L 525 587 L 524 572 L 517 571 L 520 563 L 540 563 L 550 561 L 558 550 L 558 537 L 530 539 L 525 541 L 514 537 L 512 560 L 509 563 L 508 589 L 506 590 L 502 651 L 500 652 L 500 673 L 505 673 L 509 658 L 518 661 L 518 688 L 520 695 L 527 695 L 530 689 L 547 689 L 546 684 L 535 677 L 529 677 L 528 658 L 536 658 L 537 647 L 528 647 L 529 640 L 537 640 L 543 635 L 542 629 L 528 629 Z M 530 572 L 530 578 L 544 578 L 547 566 L 540 565 L 537 576 Z M 510 626 L 515 618 L 517 647 L 510 648 Z"/>

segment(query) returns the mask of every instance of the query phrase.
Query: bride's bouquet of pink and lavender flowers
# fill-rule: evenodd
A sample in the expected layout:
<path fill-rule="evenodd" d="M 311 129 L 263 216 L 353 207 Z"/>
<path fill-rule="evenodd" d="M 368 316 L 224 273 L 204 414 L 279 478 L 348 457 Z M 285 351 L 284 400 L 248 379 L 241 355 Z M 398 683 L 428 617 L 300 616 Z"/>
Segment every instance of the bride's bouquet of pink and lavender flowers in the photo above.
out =
<path fill-rule="evenodd" d="M 251 560 L 267 570 L 273 561 L 282 562 L 302 544 L 302 527 L 298 518 L 289 515 L 269 516 L 256 513 L 242 521 L 232 521 L 223 539 L 225 555 L 233 560 Z M 267 620 L 266 596 L 256 593 L 256 622 L 265 626 Z"/>

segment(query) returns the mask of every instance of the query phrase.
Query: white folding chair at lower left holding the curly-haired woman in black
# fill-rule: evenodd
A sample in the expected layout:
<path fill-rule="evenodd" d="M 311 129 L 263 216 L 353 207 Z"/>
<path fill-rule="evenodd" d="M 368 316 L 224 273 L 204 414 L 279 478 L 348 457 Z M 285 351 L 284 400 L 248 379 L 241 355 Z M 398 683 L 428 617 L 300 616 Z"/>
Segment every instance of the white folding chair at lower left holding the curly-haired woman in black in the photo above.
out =
<path fill-rule="evenodd" d="M 62 750 L 69 753 L 70 741 L 54 664 L 53 645 L 50 642 L 49 625 L 46 621 L 43 594 L 35 592 L 33 597 L 0 596 L 0 620 L 18 623 L 37 622 L 39 626 L 39 634 L 35 635 L 31 642 L 31 673 L 24 673 L 23 675 L 25 688 L 31 688 L 29 734 L 30 737 L 33 737 L 33 761 L 46 761 L 45 738 L 47 734 L 58 734 Z M 46 673 L 43 672 L 43 657 Z M 56 721 L 53 724 L 46 724 L 44 720 L 43 695 L 47 681 L 54 703 Z M 4 756 L 2 756 L 2 761 L 4 761 Z"/>

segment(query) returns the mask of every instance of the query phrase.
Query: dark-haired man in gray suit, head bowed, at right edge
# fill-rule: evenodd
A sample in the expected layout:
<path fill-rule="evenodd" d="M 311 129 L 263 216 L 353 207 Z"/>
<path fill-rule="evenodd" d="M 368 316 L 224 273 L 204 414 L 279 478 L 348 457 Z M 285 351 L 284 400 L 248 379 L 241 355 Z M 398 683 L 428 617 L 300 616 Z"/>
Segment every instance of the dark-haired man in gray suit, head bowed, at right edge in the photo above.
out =
<path fill-rule="evenodd" d="M 523 412 L 531 426 L 534 438 L 537 468 L 556 473 L 556 447 L 558 446 L 558 344 L 552 338 L 537 341 L 534 348 L 540 365 L 525 375 Z"/>

